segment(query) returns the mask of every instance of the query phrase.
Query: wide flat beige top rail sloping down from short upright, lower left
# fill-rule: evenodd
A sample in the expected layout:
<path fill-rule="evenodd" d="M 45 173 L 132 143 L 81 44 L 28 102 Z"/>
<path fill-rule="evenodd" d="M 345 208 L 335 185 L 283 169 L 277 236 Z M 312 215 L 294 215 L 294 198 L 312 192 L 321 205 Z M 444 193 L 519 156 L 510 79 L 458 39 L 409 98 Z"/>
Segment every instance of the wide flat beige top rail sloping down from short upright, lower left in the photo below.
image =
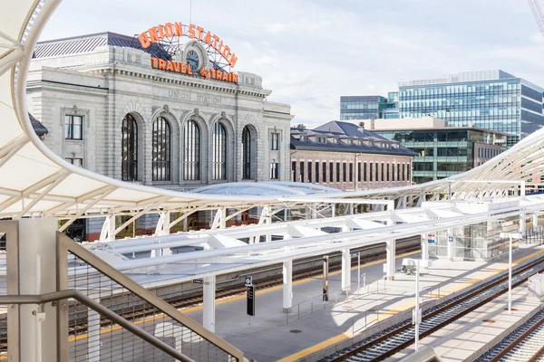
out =
<path fill-rule="evenodd" d="M 95 270 L 102 272 L 102 274 L 108 276 L 110 279 L 112 279 L 112 281 L 117 282 L 122 287 L 126 288 L 128 291 L 131 291 L 132 293 L 136 294 L 142 300 L 147 301 L 152 306 L 160 310 L 162 313 L 169 316 L 171 319 L 176 320 L 182 326 L 197 333 L 200 338 L 206 339 L 207 341 L 209 341 L 209 343 L 213 344 L 217 348 L 228 353 L 228 355 L 237 358 L 238 361 L 240 362 L 244 361 L 244 353 L 241 350 L 230 345 L 227 341 L 225 341 L 222 338 L 219 338 L 219 336 L 210 332 L 208 329 L 205 329 L 193 319 L 190 319 L 189 317 L 185 316 L 183 313 L 180 312 L 180 310 L 175 309 L 169 303 L 162 300 L 157 295 L 151 293 L 151 291 L 146 290 L 136 281 L 132 281 L 131 278 L 121 273 L 121 271 L 118 271 L 117 269 L 113 268 L 112 265 L 108 264 L 107 262 L 102 261 L 101 258 L 94 255 L 92 252 L 88 251 L 87 249 L 85 249 L 82 245 L 75 243 L 72 239 L 70 239 L 68 236 L 64 235 L 63 233 L 57 232 L 57 248 L 58 248 L 57 261 L 59 263 L 62 263 L 62 267 L 61 265 L 59 265 L 59 267 L 57 268 L 57 270 L 59 271 L 59 275 L 57 275 L 57 279 L 58 279 L 57 287 L 60 288 L 61 290 L 68 289 L 67 288 L 68 275 L 66 272 L 67 271 L 66 263 L 68 260 L 67 258 L 68 252 L 72 252 L 78 258 L 83 260 L 83 262 L 86 262 L 89 265 L 91 265 L 92 268 L 94 268 Z M 64 273 L 62 273 L 61 271 L 64 271 Z"/>

